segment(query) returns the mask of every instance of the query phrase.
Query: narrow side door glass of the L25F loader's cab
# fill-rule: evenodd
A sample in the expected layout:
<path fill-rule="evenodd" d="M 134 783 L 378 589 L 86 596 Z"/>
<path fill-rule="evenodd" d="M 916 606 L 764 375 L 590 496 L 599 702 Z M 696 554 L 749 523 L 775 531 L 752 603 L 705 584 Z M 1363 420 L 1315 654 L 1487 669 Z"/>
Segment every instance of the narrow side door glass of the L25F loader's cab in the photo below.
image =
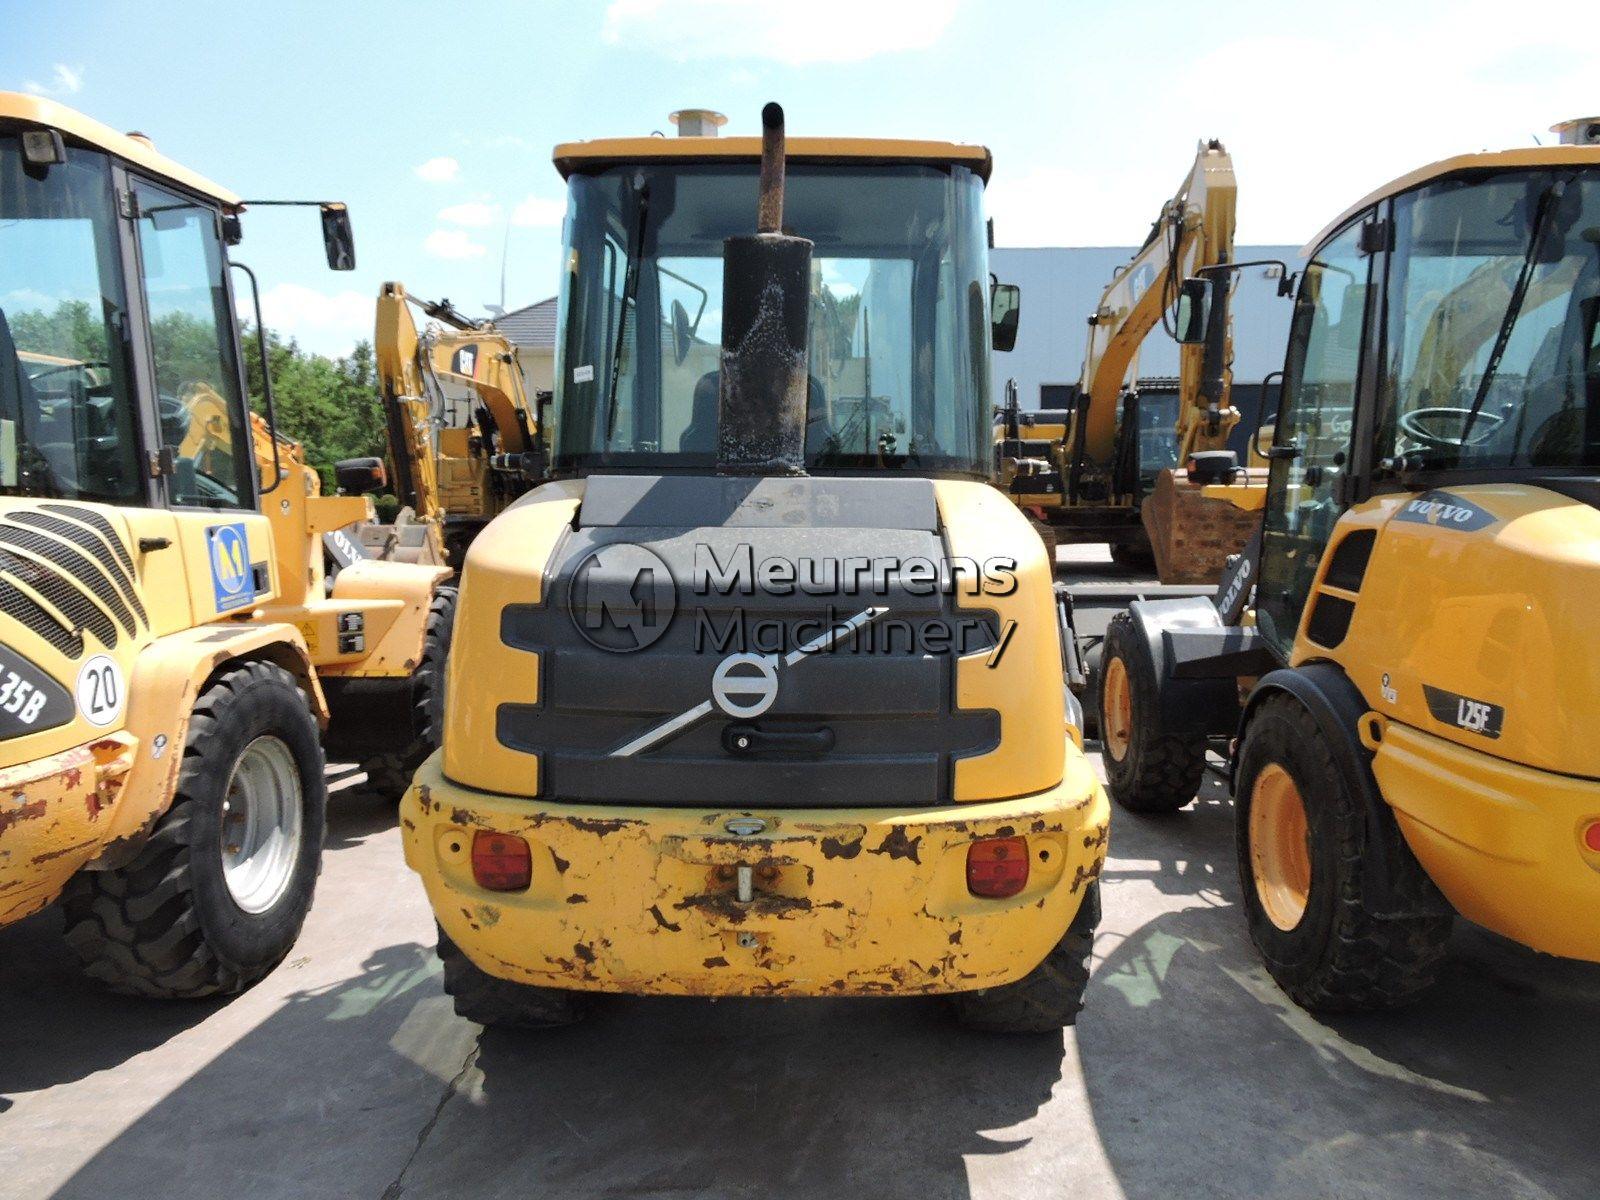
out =
<path fill-rule="evenodd" d="M 1256 606 L 1262 634 L 1285 656 L 1294 643 L 1322 552 L 1346 506 L 1342 480 L 1349 470 L 1371 267 L 1360 240 L 1357 222 L 1317 253 L 1301 278 L 1290 326 Z"/>

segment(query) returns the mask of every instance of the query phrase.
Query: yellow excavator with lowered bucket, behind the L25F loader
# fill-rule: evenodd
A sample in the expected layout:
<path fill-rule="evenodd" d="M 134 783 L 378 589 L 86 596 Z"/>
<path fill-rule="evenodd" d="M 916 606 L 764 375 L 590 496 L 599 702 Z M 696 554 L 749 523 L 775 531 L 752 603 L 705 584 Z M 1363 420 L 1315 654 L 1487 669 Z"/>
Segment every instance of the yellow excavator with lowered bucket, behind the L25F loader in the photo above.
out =
<path fill-rule="evenodd" d="M 1162 584 L 1210 584 L 1256 525 L 1250 464 L 1227 450 L 1232 322 L 1226 293 L 1174 381 L 1141 381 L 1139 347 L 1173 320 L 1184 278 L 1234 266 L 1234 160 L 1202 142 L 1150 235 L 1106 286 L 1088 322 L 1078 384 L 1064 411 L 1022 413 L 1008 392 L 995 430 L 998 483 L 1053 544 L 1109 542 L 1112 557 Z"/>

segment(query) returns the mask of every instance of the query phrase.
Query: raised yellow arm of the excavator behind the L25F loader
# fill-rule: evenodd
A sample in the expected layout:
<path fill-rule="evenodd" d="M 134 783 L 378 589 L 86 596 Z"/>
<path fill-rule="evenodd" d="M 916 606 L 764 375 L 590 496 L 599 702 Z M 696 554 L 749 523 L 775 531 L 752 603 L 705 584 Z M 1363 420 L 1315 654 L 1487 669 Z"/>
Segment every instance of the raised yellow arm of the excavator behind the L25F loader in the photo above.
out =
<path fill-rule="evenodd" d="M 1202 142 L 1189 178 L 1162 206 L 1150 237 L 1101 294 L 1090 315 L 1088 346 L 1078 386 L 1088 398 L 1082 445 L 1091 462 L 1109 464 L 1117 445 L 1118 400 L 1128 382 L 1139 346 L 1176 302 L 1178 285 L 1205 267 L 1230 262 L 1238 186 L 1234 160 L 1219 141 Z M 1206 347 L 1179 350 L 1179 453 L 1181 459 L 1202 446 L 1202 422 L 1210 405 L 1221 413 L 1221 427 L 1205 430 L 1206 445 L 1221 445 L 1238 419 L 1229 403 L 1232 331 L 1221 330 L 1221 363 L 1210 365 Z M 1211 392 L 1213 395 L 1206 395 Z M 1070 434 L 1069 434 L 1070 437 Z"/>

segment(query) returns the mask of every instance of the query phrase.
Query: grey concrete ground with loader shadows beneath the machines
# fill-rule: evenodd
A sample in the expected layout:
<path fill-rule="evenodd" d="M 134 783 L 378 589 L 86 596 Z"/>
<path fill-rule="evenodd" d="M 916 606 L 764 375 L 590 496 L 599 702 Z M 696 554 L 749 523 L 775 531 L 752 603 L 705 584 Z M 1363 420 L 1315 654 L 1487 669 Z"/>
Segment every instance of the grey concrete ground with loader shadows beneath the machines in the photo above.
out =
<path fill-rule="evenodd" d="M 1246 939 L 1232 808 L 1117 813 L 1088 1008 L 637 1000 L 482 1032 L 392 810 L 334 771 L 294 952 L 251 992 L 98 992 L 0 930 L 0 1197 L 1592 1197 L 1600 966 L 1461 928 L 1390 1016 L 1307 1016 Z"/>

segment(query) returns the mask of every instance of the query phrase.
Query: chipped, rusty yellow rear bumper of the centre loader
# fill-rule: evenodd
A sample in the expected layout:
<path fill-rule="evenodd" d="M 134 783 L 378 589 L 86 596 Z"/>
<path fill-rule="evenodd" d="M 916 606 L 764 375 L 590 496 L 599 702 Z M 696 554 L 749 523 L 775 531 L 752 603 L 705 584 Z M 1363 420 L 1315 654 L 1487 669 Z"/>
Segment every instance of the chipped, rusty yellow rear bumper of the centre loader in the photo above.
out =
<path fill-rule="evenodd" d="M 962 992 L 1027 974 L 1106 858 L 1109 808 L 1067 749 L 1062 782 L 1019 800 L 906 813 L 552 805 L 458 787 L 434 755 L 400 808 L 405 858 L 445 933 L 483 971 L 547 987 L 670 995 Z M 765 829 L 739 837 L 734 818 Z M 472 880 L 475 830 L 533 846 L 533 883 Z M 1024 835 L 1024 891 L 966 890 L 966 846 Z M 738 867 L 754 898 L 739 902 Z"/>

